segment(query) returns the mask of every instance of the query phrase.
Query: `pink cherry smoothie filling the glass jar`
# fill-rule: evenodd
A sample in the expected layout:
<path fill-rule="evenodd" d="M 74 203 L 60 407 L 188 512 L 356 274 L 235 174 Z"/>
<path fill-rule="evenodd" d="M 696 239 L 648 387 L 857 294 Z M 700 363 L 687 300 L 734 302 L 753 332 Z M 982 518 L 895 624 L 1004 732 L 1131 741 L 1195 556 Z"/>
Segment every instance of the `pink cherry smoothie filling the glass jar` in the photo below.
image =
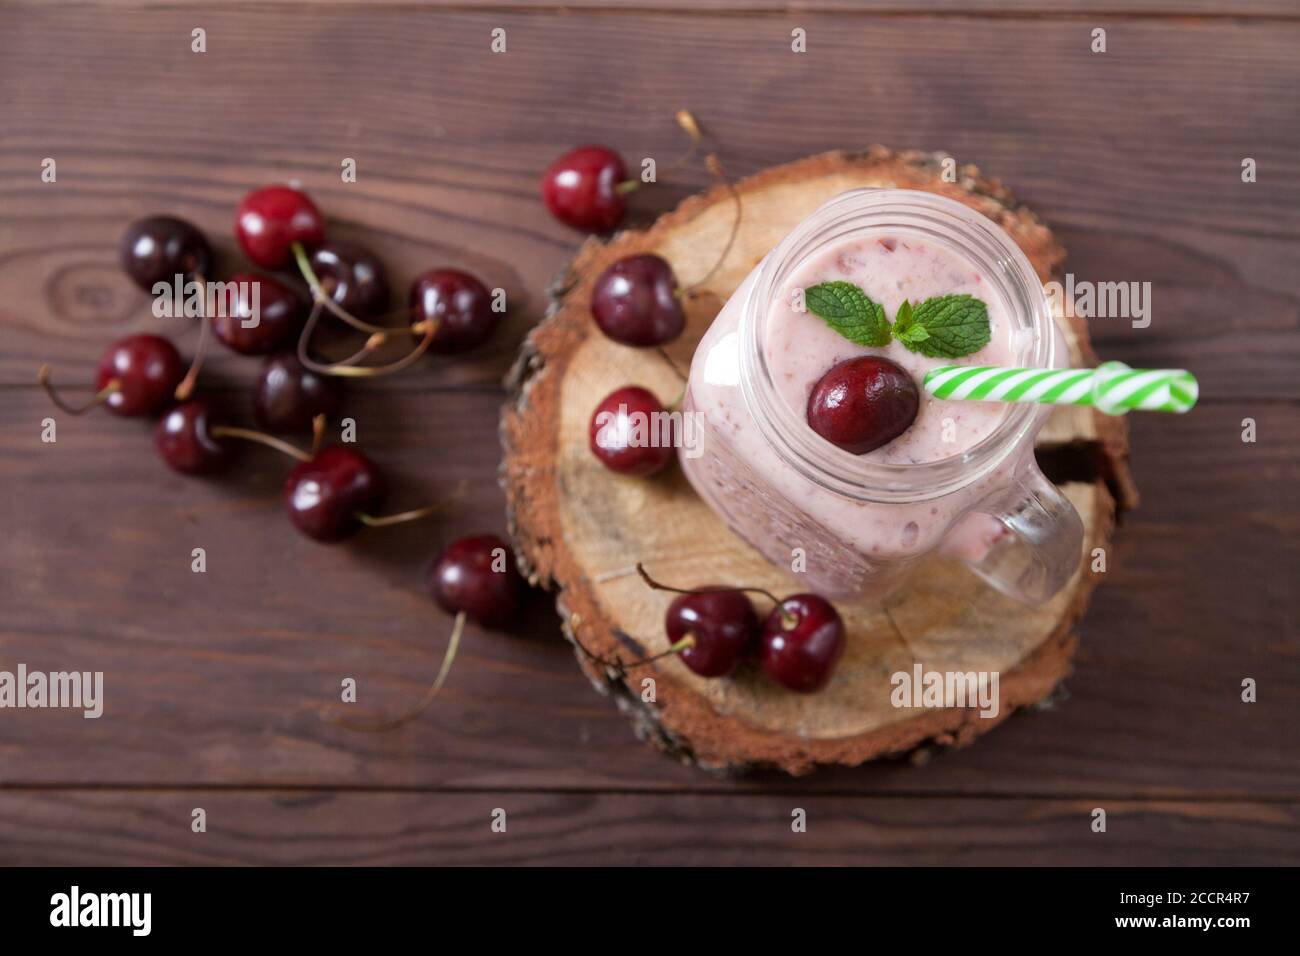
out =
<path fill-rule="evenodd" d="M 702 447 L 680 458 L 697 492 L 774 563 L 800 571 L 794 562 L 801 550 L 806 568 L 797 576 L 832 596 L 888 593 L 915 558 L 940 546 L 978 561 L 1004 525 L 976 506 L 1008 480 L 1026 450 L 954 493 L 918 501 L 855 499 L 810 480 L 762 434 L 741 386 L 740 324 L 758 272 L 723 307 L 692 362 L 685 408 L 702 416 Z M 988 307 L 991 339 L 959 359 L 927 358 L 898 341 L 880 349 L 855 345 L 801 308 L 802 290 L 837 280 L 859 286 L 890 321 L 904 299 L 915 306 L 931 297 L 972 295 Z M 828 369 L 861 355 L 898 363 L 920 392 L 916 419 L 861 458 L 909 466 L 962 455 L 1008 414 L 1005 405 L 932 398 L 920 388 L 926 372 L 949 364 L 1014 365 L 1030 352 L 1032 337 L 1008 315 L 989 277 L 956 250 L 926 235 L 859 230 L 826 243 L 789 271 L 767 303 L 760 349 L 780 401 L 798 415 L 796 427 L 810 432 L 809 394 Z M 850 454 L 820 436 L 816 441 L 824 442 L 828 457 Z"/>

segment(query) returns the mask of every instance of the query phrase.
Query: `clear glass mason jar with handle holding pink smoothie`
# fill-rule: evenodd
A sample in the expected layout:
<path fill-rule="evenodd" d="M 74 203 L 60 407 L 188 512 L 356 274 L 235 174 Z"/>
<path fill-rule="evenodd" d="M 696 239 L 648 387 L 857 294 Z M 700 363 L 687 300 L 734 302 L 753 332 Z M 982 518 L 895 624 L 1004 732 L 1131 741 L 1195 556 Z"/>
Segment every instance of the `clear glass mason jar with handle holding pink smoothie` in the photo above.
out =
<path fill-rule="evenodd" d="M 1074 507 L 1034 460 L 1050 407 L 979 403 L 988 431 L 970 447 L 887 463 L 822 438 L 774 381 L 768 320 L 790 274 L 819 252 L 871 235 L 932 243 L 976 271 L 989 313 L 1010 323 L 1006 358 L 1014 364 L 1067 363 L 1034 268 L 997 224 L 930 193 L 853 190 L 796 226 L 699 342 L 682 406 L 697 434 L 679 453 L 682 470 L 737 535 L 774 564 L 801 571 L 796 579 L 811 591 L 883 597 L 937 550 L 1011 597 L 1045 601 L 1074 574 L 1083 541 Z M 976 356 L 957 363 L 1004 364 Z"/>

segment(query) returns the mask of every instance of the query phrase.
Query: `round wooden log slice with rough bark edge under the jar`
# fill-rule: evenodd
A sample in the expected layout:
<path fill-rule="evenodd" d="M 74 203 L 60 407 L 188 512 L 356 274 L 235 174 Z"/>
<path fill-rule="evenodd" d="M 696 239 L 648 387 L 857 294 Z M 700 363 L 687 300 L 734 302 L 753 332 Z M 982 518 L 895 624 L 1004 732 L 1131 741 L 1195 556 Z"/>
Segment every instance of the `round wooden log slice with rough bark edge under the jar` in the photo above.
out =
<path fill-rule="evenodd" d="M 611 342 L 595 328 L 590 289 L 601 271 L 633 252 L 667 259 L 689 287 L 714 268 L 734 206 L 719 187 L 688 199 L 644 232 L 588 241 L 552 293 L 552 306 L 523 346 L 507 380 L 502 414 L 506 490 L 520 564 L 534 584 L 556 592 L 569 640 L 604 659 L 630 661 L 667 648 L 663 618 L 672 596 L 650 591 L 633 564 L 684 587 L 731 583 L 790 592 L 798 585 L 737 538 L 672 467 L 653 479 L 604 470 L 588 449 L 595 405 L 638 384 L 664 401 L 703 332 L 749 271 L 818 206 L 861 186 L 920 189 L 957 199 L 997 221 L 1045 281 L 1065 251 L 1037 217 L 974 166 L 957 182 L 940 177 L 941 155 L 824 153 L 759 173 L 737 189 L 740 233 L 725 260 L 688 300 L 685 334 L 666 354 Z M 1096 364 L 1082 321 L 1065 324 L 1075 365 Z M 1072 626 L 1096 584 L 1092 549 L 1104 548 L 1118 512 L 1136 502 L 1128 479 L 1123 419 L 1061 408 L 1039 441 L 1040 462 L 1083 518 L 1079 571 L 1043 607 L 1018 605 L 965 567 L 935 558 L 888 601 L 841 601 L 848 649 L 831 683 L 790 693 L 745 665 L 729 679 L 706 680 L 679 659 L 607 669 L 575 649 L 598 689 L 615 697 L 636 730 L 664 750 L 711 769 L 780 767 L 802 774 L 819 763 L 857 765 L 927 741 L 961 745 L 1045 697 L 1067 674 Z M 892 618 L 892 622 L 890 622 Z M 927 671 L 998 671 L 996 719 L 974 709 L 897 709 L 889 676 L 920 663 Z M 653 700 L 646 679 L 653 679 Z"/>

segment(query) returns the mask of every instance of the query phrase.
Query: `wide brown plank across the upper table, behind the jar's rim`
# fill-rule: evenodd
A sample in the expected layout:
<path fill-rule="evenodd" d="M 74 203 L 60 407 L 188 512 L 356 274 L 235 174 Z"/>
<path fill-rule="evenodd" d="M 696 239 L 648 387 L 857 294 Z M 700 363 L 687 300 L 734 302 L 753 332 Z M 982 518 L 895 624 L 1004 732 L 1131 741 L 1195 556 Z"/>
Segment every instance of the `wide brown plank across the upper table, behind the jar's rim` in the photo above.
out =
<path fill-rule="evenodd" d="M 690 107 L 734 174 L 870 142 L 978 163 L 1061 229 L 1079 278 L 1154 284 L 1150 328 L 1098 329 L 1108 358 L 1190 364 L 1213 397 L 1300 394 L 1300 23 L 1121 17 L 1097 56 L 1087 18 L 801 12 L 800 56 L 784 16 L 224 5 L 204 9 L 196 56 L 194 16 L 0 10 L 0 384 L 47 359 L 83 381 L 107 341 L 156 325 L 113 264 L 133 216 L 191 216 L 229 247 L 239 195 L 290 177 L 380 247 L 399 287 L 454 263 L 511 295 L 481 355 L 389 384 L 494 382 L 576 246 L 537 202 L 538 172 L 592 139 L 667 165 L 672 113 Z M 51 62 L 78 69 L 29 82 Z M 338 182 L 343 156 L 356 185 Z M 671 178 L 632 221 L 705 182 Z"/>

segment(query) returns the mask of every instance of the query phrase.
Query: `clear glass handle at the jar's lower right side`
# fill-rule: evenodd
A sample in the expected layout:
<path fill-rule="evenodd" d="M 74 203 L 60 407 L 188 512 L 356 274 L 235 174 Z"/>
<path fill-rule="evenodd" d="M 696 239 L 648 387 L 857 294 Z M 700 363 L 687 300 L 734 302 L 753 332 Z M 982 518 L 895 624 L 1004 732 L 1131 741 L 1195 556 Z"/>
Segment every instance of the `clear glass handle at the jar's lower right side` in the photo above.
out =
<path fill-rule="evenodd" d="M 1083 522 L 1061 489 L 1039 471 L 1034 457 L 1011 480 L 972 511 L 1002 523 L 1002 535 L 966 564 L 1009 597 L 1024 604 L 1052 598 L 1079 567 Z"/>

